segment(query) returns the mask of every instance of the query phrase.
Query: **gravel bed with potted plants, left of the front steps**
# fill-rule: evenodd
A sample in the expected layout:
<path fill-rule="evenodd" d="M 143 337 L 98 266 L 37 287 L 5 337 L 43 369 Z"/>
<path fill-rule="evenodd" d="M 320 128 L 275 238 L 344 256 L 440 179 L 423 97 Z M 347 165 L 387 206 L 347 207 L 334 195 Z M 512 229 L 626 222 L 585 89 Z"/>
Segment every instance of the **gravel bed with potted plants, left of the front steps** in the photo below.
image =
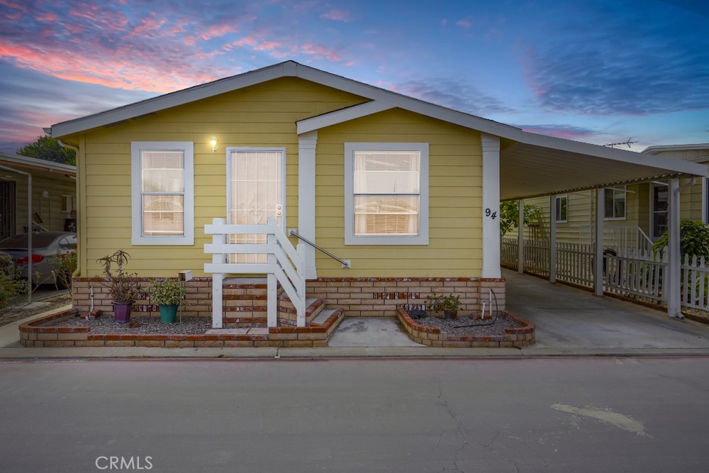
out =
<path fill-rule="evenodd" d="M 106 333 L 131 333 L 146 335 L 149 333 L 168 333 L 171 335 L 206 333 L 212 328 L 211 317 L 183 317 L 182 324 L 179 317 L 175 323 L 162 323 L 160 317 L 130 317 L 128 323 L 118 323 L 113 316 L 101 316 L 94 319 L 80 317 L 67 318 L 60 322 L 51 321 L 45 325 L 51 327 L 89 327 L 91 334 L 104 335 Z"/>

